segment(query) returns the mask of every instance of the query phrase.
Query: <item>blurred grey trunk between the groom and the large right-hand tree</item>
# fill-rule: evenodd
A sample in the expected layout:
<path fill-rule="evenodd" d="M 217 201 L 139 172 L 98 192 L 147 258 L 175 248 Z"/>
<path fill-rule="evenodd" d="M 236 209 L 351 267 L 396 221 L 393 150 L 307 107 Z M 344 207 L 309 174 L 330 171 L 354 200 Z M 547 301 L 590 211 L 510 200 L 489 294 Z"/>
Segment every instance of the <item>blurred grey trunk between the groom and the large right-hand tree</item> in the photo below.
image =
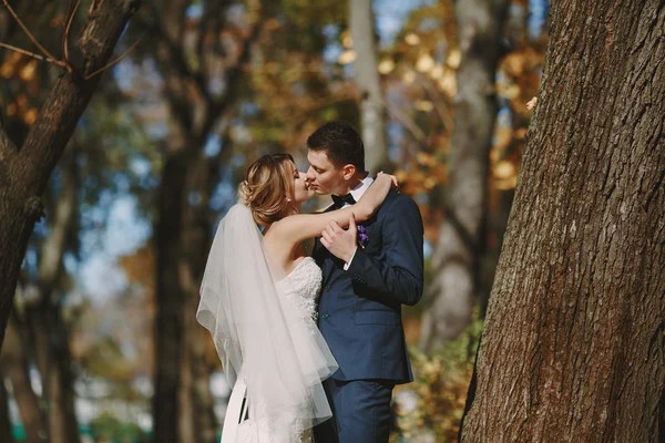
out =
<path fill-rule="evenodd" d="M 427 351 L 464 330 L 481 285 L 490 148 L 498 111 L 494 75 L 508 4 L 508 0 L 460 0 L 456 6 L 462 61 L 457 74 L 446 219 L 432 258 L 433 300 L 424 312 L 420 341 Z"/>

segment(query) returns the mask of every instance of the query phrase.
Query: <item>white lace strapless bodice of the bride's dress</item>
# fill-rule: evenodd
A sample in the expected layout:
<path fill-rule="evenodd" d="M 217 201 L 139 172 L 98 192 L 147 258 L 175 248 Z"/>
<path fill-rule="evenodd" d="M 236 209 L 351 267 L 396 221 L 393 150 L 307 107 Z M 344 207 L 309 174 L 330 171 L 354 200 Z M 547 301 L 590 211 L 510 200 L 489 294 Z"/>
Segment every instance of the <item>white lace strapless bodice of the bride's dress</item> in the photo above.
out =
<path fill-rule="evenodd" d="M 284 293 L 299 317 L 316 320 L 316 303 L 321 290 L 323 274 L 314 258 L 305 257 L 296 268 L 279 281 Z"/>

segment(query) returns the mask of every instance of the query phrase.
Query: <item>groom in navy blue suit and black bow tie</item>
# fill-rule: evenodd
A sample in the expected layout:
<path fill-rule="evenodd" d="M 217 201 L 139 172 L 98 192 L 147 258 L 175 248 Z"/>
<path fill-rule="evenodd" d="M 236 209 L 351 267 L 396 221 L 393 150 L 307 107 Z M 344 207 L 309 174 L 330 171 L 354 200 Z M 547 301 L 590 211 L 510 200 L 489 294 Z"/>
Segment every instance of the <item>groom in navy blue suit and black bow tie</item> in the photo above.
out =
<path fill-rule="evenodd" d="M 331 122 L 307 146 L 309 186 L 332 194 L 327 210 L 356 203 L 372 182 L 358 132 Z M 413 380 L 401 306 L 416 305 L 422 295 L 418 206 L 390 192 L 361 227 L 352 222 L 347 230 L 326 228 L 313 255 L 324 272 L 319 329 L 339 363 L 324 383 L 332 419 L 315 427 L 316 443 L 388 442 L 392 388 Z"/>

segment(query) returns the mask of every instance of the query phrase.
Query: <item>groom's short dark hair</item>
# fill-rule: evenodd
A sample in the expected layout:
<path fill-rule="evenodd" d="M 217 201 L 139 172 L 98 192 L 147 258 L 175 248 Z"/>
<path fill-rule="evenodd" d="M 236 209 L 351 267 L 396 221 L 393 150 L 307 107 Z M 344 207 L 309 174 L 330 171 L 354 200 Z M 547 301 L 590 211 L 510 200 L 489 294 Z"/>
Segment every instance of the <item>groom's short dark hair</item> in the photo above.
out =
<path fill-rule="evenodd" d="M 358 131 L 347 122 L 326 123 L 307 138 L 307 147 L 324 151 L 336 167 L 356 166 L 365 172 L 365 146 Z"/>

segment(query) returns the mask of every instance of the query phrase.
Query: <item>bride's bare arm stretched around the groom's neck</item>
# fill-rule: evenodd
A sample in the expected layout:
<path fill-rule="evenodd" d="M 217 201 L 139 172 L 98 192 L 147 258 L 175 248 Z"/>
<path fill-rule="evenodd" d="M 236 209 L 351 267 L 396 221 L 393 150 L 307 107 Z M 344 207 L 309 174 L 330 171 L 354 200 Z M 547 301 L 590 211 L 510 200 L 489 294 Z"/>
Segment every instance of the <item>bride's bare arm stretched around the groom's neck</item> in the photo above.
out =
<path fill-rule="evenodd" d="M 392 175 L 379 174 L 355 205 L 328 213 L 291 215 L 273 224 L 272 229 L 277 230 L 280 237 L 299 243 L 321 235 L 330 222 L 336 222 L 342 228 L 348 227 L 351 214 L 356 217 L 356 222 L 362 223 L 371 218 L 396 185 Z"/>

